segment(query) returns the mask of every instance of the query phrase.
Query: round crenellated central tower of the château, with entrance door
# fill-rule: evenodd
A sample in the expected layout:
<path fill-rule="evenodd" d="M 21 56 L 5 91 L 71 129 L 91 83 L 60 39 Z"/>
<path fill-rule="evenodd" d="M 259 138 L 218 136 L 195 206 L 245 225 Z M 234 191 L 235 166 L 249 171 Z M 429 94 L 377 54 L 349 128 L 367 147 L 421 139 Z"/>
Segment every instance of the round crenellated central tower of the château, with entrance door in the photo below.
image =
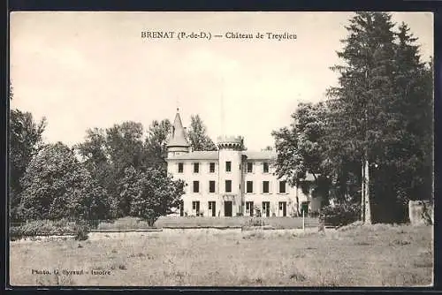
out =
<path fill-rule="evenodd" d="M 244 140 L 240 136 L 217 138 L 219 150 L 219 196 L 224 216 L 243 212 L 243 157 Z"/>

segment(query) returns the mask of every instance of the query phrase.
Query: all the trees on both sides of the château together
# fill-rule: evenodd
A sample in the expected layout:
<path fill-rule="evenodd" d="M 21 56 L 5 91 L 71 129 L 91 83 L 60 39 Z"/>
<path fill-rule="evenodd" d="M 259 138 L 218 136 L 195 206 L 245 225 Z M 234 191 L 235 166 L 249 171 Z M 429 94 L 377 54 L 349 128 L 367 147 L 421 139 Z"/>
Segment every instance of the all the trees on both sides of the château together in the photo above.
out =
<path fill-rule="evenodd" d="M 432 198 L 433 65 L 417 38 L 383 12 L 349 19 L 338 51 L 337 87 L 303 103 L 272 135 L 278 177 L 299 185 L 311 173 L 324 205 L 360 204 L 369 163 L 375 222 L 407 220 L 408 200 Z M 397 28 L 395 28 L 397 27 Z M 13 97 L 10 92 L 11 99 Z M 67 147 L 42 141 L 46 119 L 11 110 L 11 220 L 141 216 L 152 223 L 178 207 L 184 183 L 167 175 L 168 119 L 92 128 Z M 194 150 L 216 150 L 201 117 L 191 117 Z M 271 150 L 271 147 L 266 147 Z"/>

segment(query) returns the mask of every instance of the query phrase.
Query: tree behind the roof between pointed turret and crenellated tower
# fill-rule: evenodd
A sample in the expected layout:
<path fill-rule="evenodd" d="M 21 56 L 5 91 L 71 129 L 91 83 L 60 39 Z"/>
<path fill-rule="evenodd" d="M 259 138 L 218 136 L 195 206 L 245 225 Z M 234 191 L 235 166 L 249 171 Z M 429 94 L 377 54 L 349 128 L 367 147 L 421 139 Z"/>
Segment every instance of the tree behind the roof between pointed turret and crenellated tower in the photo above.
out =
<path fill-rule="evenodd" d="M 199 115 L 192 115 L 190 128 L 187 131 L 190 146 L 194 151 L 214 151 L 217 146 L 206 133 L 206 126 Z"/>

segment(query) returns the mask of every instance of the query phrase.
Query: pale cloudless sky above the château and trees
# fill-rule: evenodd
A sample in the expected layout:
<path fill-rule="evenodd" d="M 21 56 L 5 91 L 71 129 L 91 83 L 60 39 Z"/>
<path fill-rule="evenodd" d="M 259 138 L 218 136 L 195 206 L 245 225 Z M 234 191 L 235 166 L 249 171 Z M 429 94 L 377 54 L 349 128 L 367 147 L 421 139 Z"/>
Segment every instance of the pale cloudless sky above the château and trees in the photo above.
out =
<path fill-rule="evenodd" d="M 72 146 L 89 128 L 199 114 L 212 140 L 273 145 L 299 102 L 324 100 L 352 12 L 15 11 L 10 18 L 11 109 L 46 117 L 43 140 Z M 395 12 L 433 56 L 431 12 Z M 296 40 L 147 39 L 141 32 L 296 34 Z"/>

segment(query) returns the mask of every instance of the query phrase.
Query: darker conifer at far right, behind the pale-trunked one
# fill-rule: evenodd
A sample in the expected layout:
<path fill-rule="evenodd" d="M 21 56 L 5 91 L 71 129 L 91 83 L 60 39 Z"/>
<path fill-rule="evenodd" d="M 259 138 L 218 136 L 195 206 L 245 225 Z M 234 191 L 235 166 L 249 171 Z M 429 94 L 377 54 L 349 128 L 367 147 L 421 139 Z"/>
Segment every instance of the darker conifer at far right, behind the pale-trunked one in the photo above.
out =
<path fill-rule="evenodd" d="M 433 146 L 433 75 L 432 66 L 421 61 L 417 39 L 402 23 L 395 42 L 393 85 L 396 97 L 390 113 L 396 117 L 390 124 L 389 140 L 377 169 L 375 192 L 383 195 L 377 203 L 395 208 L 394 221 L 408 219 L 408 200 L 431 199 Z M 380 216 L 385 221 L 392 210 Z"/>

